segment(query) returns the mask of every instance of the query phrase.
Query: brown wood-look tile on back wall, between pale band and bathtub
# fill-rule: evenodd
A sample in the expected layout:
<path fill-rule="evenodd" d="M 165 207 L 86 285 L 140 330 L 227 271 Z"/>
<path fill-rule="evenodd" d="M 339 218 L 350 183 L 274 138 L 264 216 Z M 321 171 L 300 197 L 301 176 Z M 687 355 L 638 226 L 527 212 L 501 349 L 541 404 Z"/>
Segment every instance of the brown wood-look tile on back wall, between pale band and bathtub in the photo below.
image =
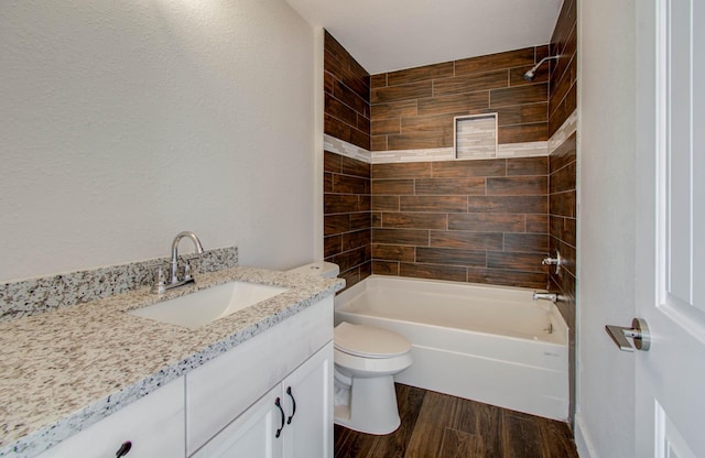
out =
<path fill-rule="evenodd" d="M 372 272 L 543 288 L 549 159 L 372 165 Z"/>

